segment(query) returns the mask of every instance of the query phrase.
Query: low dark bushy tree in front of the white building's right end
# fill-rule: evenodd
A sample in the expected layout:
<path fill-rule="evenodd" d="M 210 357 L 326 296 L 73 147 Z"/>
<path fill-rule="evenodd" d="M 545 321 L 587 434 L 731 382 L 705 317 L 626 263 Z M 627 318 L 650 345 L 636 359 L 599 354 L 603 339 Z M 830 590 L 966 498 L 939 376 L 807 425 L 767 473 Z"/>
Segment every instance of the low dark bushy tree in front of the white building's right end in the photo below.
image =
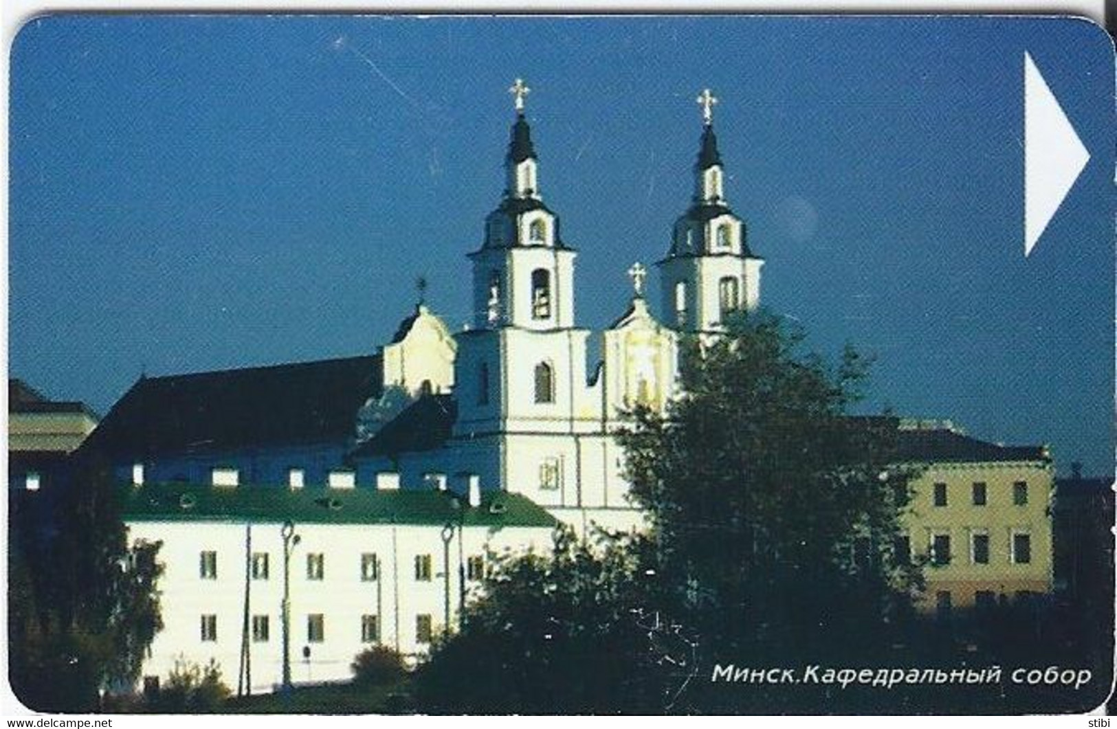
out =
<path fill-rule="evenodd" d="M 641 553 L 639 540 L 590 545 L 560 529 L 548 555 L 496 557 L 460 631 L 417 672 L 420 710 L 661 711 Z"/>

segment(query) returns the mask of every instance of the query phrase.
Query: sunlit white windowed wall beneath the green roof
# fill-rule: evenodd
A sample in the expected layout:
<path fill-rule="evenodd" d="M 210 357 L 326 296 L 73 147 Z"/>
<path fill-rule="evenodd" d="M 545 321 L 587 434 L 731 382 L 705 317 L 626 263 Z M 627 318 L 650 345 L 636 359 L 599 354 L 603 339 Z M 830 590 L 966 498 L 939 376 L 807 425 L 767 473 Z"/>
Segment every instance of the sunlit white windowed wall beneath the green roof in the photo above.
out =
<path fill-rule="evenodd" d="M 162 593 L 163 630 L 155 636 L 143 675 L 165 681 L 179 656 L 204 664 L 211 658 L 222 670 L 225 682 L 237 688 L 240 664 L 246 575 L 246 526 L 227 522 L 134 522 L 130 537 L 161 539 L 160 562 L 165 566 L 159 583 Z M 299 544 L 290 562 L 290 655 L 295 683 L 347 680 L 350 663 L 367 648 L 361 642 L 361 616 L 381 616 L 381 642 L 407 654 L 422 653 L 427 645 L 416 635 L 416 616 L 430 615 L 437 633 L 445 625 L 447 576 L 443 570 L 441 526 L 296 525 Z M 484 555 L 551 545 L 550 528 L 509 527 L 489 531 L 467 527 L 461 556 Z M 217 578 L 200 577 L 200 553 L 217 553 Z M 251 642 L 252 690 L 270 691 L 283 677 L 284 583 L 283 540 L 279 524 L 251 527 L 251 551 L 269 555 L 269 578 L 249 581 L 250 615 L 268 615 L 266 643 Z M 324 556 L 322 581 L 307 578 L 307 555 Z M 361 554 L 380 558 L 380 579 L 361 579 Z M 458 608 L 458 535 L 450 541 L 449 594 L 451 623 Z M 414 558 L 430 555 L 431 579 L 417 581 Z M 467 587 L 471 588 L 469 584 Z M 472 587 L 476 587 L 474 585 Z M 201 640 L 201 616 L 217 616 L 217 641 Z M 307 615 L 324 616 L 321 643 L 307 640 Z M 303 648 L 311 646 L 311 660 Z"/>

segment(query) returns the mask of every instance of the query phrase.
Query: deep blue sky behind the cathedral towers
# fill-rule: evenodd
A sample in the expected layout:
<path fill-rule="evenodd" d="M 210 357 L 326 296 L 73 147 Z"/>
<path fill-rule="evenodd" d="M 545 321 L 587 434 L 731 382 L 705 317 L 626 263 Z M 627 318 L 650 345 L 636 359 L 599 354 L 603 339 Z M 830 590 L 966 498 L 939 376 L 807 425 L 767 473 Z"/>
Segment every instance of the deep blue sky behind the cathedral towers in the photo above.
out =
<path fill-rule="evenodd" d="M 1092 155 L 1029 259 L 1024 50 Z M 1113 74 L 1057 19 L 41 18 L 11 61 L 11 373 L 104 413 L 144 371 L 370 353 L 419 275 L 459 328 L 516 76 L 600 329 L 688 205 L 709 86 L 763 301 L 877 355 L 866 410 L 1111 473 Z"/>

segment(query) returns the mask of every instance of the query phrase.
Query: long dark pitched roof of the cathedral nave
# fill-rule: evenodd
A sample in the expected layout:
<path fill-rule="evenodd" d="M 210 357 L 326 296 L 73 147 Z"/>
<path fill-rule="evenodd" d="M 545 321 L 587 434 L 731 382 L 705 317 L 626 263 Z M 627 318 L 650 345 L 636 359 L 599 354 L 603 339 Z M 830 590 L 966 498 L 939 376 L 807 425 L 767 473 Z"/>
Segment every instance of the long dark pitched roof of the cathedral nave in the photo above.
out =
<path fill-rule="evenodd" d="M 381 394 L 379 356 L 144 377 L 86 439 L 113 457 L 345 441 Z"/>

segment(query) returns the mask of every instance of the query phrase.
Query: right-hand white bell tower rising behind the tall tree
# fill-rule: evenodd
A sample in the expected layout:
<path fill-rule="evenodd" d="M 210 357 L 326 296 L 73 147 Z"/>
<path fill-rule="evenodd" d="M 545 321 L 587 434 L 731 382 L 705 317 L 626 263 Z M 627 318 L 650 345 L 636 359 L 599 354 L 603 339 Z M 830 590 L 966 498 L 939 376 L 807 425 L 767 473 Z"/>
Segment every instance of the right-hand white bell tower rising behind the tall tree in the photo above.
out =
<path fill-rule="evenodd" d="M 710 90 L 697 98 L 703 132 L 695 162 L 690 209 L 675 221 L 671 246 L 659 268 L 660 313 L 670 326 L 717 332 L 733 311 L 760 304 L 761 266 L 746 240 L 746 227 L 725 200 L 725 170 L 714 133 Z"/>

